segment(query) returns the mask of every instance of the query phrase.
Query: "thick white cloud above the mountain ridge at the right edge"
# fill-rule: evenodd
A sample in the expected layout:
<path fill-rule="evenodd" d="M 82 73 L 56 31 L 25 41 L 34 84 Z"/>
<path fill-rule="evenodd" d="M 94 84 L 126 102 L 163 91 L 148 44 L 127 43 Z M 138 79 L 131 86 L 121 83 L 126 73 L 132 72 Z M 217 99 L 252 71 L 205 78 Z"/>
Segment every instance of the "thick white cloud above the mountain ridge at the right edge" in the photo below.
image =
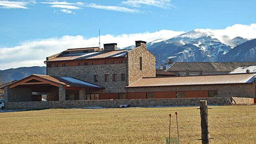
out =
<path fill-rule="evenodd" d="M 195 31 L 212 32 L 220 40 L 223 35 L 227 35 L 230 39 L 238 36 L 252 39 L 256 38 L 256 23 L 250 25 L 234 24 L 225 29 L 195 29 Z"/>

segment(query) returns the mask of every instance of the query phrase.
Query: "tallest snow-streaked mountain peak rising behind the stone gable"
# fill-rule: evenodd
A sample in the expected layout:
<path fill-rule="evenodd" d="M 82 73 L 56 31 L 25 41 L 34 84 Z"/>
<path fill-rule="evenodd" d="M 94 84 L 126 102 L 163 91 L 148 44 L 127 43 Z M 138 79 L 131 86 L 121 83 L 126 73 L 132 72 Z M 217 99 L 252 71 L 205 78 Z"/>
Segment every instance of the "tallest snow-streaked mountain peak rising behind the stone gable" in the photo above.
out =
<path fill-rule="evenodd" d="M 169 40 L 149 45 L 147 48 L 155 56 L 160 54 L 160 62 L 163 63 L 168 58 L 180 62 L 213 62 L 233 47 L 223 44 L 211 32 L 189 31 Z M 159 60 L 158 57 L 157 60 Z"/>

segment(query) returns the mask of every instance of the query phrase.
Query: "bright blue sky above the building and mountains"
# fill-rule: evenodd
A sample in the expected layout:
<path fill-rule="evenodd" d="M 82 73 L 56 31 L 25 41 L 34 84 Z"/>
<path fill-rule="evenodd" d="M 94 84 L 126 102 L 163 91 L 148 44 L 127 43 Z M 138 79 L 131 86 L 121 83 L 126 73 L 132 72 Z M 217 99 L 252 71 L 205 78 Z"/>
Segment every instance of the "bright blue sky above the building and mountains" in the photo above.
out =
<path fill-rule="evenodd" d="M 95 46 L 99 29 L 103 42 L 122 42 L 131 35 L 150 41 L 171 38 L 194 29 L 227 29 L 235 24 L 241 24 L 243 29 L 243 25 L 256 23 L 255 6 L 255 0 L 0 0 L 0 49 L 8 57 L 7 54 L 21 47 L 29 51 L 28 46 L 33 42 L 63 42 L 61 40 L 67 39 L 81 42 L 80 39 L 87 40 L 83 47 Z M 120 46 L 129 46 L 133 40 Z M 61 46 L 64 50 L 80 45 Z M 45 59 L 47 54 L 44 53 L 42 58 Z M 24 61 L 19 65 L 43 65 L 42 62 L 39 64 L 41 57 L 38 60 L 25 58 L 26 55 L 17 58 L 17 61 Z M 0 58 L 0 63 L 6 65 L 0 69 L 18 67 L 11 62 Z"/>

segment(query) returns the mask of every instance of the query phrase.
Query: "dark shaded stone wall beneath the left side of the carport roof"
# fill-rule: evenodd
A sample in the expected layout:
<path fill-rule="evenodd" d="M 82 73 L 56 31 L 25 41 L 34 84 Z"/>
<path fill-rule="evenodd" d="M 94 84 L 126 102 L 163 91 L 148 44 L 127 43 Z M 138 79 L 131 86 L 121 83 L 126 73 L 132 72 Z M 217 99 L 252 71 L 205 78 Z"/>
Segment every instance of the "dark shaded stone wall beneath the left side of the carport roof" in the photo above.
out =
<path fill-rule="evenodd" d="M 32 101 L 32 91 L 29 88 L 8 89 L 8 102 L 27 102 Z"/>

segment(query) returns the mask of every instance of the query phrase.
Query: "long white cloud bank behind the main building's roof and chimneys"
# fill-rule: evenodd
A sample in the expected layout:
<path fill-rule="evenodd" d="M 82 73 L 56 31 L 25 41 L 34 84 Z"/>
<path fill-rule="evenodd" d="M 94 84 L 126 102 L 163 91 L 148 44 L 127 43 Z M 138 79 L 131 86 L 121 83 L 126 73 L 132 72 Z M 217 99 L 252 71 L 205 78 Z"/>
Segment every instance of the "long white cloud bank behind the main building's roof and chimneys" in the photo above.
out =
<path fill-rule="evenodd" d="M 153 33 L 133 33 L 122 35 L 102 35 L 101 44 L 118 43 L 118 47 L 128 47 L 135 44 L 135 40 L 153 41 L 159 38 L 172 38 L 184 32 L 161 30 Z M 24 66 L 45 66 L 47 56 L 57 54 L 68 48 L 95 47 L 98 46 L 99 38 L 84 38 L 81 35 L 65 35 L 61 38 L 48 38 L 23 42 L 15 47 L 0 48 L 0 69 L 17 68 Z"/>

